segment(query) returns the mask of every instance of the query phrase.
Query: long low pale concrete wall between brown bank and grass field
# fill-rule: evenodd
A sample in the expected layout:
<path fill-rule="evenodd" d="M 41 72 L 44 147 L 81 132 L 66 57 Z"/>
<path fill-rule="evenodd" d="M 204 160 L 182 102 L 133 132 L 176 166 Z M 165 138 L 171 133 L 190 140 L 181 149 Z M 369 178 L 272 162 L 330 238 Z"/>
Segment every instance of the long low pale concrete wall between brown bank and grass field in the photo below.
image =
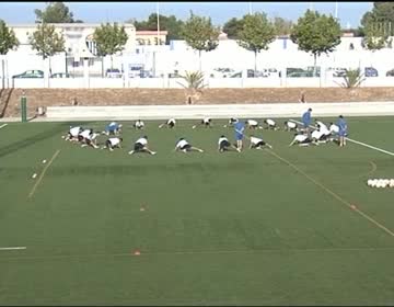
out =
<path fill-rule="evenodd" d="M 312 107 L 314 117 L 394 115 L 394 101 L 345 103 L 278 103 L 278 104 L 221 104 L 221 105 L 128 105 L 128 106 L 50 106 L 50 121 L 83 120 L 188 120 L 204 118 L 267 118 L 292 117 Z"/>

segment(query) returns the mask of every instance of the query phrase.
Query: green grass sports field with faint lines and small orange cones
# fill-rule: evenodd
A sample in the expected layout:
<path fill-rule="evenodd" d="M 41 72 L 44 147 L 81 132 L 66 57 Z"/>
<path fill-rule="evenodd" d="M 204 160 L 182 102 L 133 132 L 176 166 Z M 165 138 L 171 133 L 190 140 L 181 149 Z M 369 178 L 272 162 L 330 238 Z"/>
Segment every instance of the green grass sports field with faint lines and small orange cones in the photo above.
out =
<path fill-rule="evenodd" d="M 394 117 L 347 121 L 394 151 Z M 219 154 L 224 122 L 124 122 L 113 152 L 61 139 L 72 123 L 0 129 L 0 248 L 26 247 L 0 250 L 0 305 L 393 305 L 394 189 L 366 182 L 394 157 L 282 130 Z M 158 155 L 127 155 L 143 134 Z M 206 152 L 172 152 L 182 136 Z"/>

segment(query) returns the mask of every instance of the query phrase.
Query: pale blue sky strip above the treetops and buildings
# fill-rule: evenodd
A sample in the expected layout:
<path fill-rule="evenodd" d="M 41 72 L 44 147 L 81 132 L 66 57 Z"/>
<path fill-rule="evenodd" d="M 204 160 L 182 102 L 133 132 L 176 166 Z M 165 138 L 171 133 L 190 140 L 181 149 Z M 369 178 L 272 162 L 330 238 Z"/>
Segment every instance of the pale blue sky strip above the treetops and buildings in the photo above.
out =
<path fill-rule="evenodd" d="M 0 19 L 7 23 L 34 23 L 35 9 L 44 9 L 46 2 L 0 2 Z M 157 3 L 147 2 L 67 2 L 76 19 L 86 23 L 124 22 L 135 18 L 146 19 L 155 12 Z M 312 4 L 322 13 L 334 15 L 335 2 L 251 2 L 253 11 L 264 11 L 268 16 L 281 16 L 297 21 Z M 357 27 L 361 16 L 372 9 L 373 2 L 338 2 L 338 18 L 344 27 Z M 210 16 L 215 24 L 223 24 L 232 16 L 241 18 L 250 10 L 250 2 L 159 2 L 160 13 L 186 19 L 189 11 Z"/>

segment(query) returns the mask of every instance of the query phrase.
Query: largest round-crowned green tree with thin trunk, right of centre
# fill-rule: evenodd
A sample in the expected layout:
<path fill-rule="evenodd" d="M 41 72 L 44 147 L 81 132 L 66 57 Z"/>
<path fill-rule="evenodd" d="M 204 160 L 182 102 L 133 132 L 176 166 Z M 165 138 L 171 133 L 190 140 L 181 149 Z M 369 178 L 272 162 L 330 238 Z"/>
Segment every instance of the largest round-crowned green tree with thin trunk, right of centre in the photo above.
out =
<path fill-rule="evenodd" d="M 317 56 L 333 52 L 340 44 L 340 25 L 333 16 L 308 10 L 292 27 L 290 38 L 299 49 L 313 54 L 315 75 Z"/>

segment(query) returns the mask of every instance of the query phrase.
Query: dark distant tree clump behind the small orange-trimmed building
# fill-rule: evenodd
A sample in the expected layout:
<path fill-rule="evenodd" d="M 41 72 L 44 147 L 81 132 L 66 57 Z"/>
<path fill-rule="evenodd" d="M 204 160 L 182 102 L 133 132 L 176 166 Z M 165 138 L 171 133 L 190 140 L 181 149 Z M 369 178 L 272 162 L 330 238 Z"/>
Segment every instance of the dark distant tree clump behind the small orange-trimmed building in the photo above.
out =
<path fill-rule="evenodd" d="M 169 44 L 172 39 L 181 39 L 182 26 L 184 24 L 182 20 L 177 20 L 175 15 L 166 16 L 159 14 L 159 21 L 160 30 L 169 32 L 165 44 Z M 150 14 L 146 21 L 129 20 L 127 22 L 132 23 L 137 31 L 158 31 L 157 13 Z"/>

